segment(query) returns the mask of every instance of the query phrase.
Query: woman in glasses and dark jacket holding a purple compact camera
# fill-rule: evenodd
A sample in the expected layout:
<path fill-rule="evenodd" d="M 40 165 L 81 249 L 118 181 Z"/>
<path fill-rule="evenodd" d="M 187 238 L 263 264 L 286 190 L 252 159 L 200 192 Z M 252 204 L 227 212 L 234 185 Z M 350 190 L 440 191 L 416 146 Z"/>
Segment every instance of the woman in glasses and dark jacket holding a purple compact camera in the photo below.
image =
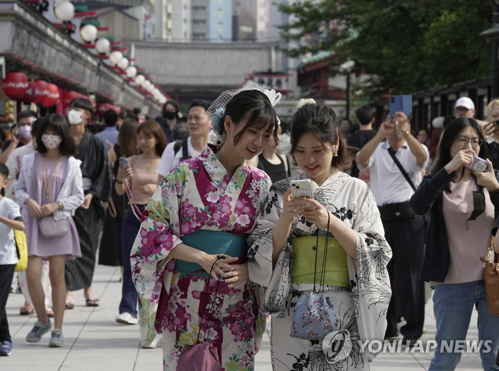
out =
<path fill-rule="evenodd" d="M 478 156 L 478 157 L 477 157 Z M 499 183 L 487 158 L 484 137 L 473 118 L 460 117 L 445 128 L 429 176 L 423 179 L 410 205 L 415 213 L 430 211 L 420 280 L 435 290 L 433 310 L 437 348 L 430 371 L 454 370 L 461 352 L 445 345 L 464 341 L 475 307 L 484 370 L 499 370 L 499 317 L 487 312 L 484 264 L 491 229 L 499 212 Z M 485 169 L 487 167 L 487 169 Z M 444 345 L 444 346 L 443 346 Z"/>

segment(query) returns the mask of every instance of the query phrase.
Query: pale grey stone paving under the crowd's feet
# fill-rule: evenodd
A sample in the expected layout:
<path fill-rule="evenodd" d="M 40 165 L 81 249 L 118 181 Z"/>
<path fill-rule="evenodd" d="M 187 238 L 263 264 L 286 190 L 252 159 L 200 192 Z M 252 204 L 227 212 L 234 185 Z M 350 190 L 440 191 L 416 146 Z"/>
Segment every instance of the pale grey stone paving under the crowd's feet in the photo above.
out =
<path fill-rule="evenodd" d="M 100 299 L 99 307 L 85 307 L 83 292 L 75 293 L 76 306 L 65 312 L 63 348 L 48 348 L 49 334 L 37 344 L 24 338 L 31 330 L 35 316 L 19 316 L 23 296 L 11 294 L 7 302 L 7 316 L 13 336 L 10 357 L 0 358 L 0 371 L 153 371 L 162 370 L 162 350 L 139 347 L 138 326 L 120 325 L 118 314 L 121 298 L 118 268 L 97 266 L 93 291 Z M 474 313 L 468 339 L 478 338 L 477 316 Z M 433 340 L 435 319 L 431 300 L 426 306 L 426 328 L 422 340 Z M 380 354 L 371 364 L 373 371 L 427 370 L 432 354 L 424 352 Z M 271 371 L 270 341 L 263 339 L 256 356 L 256 371 Z M 463 354 L 458 370 L 482 370 L 478 354 Z M 305 370 L 304 370 L 305 371 Z"/>

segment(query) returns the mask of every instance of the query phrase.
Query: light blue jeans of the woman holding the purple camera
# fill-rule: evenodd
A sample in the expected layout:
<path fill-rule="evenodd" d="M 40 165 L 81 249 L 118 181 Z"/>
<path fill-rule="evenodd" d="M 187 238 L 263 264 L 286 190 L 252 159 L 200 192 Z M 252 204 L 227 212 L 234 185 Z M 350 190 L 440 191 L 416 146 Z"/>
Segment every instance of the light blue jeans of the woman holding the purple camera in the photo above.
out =
<path fill-rule="evenodd" d="M 482 368 L 499 370 L 495 365 L 499 347 L 499 316 L 487 312 L 484 280 L 462 284 L 439 284 L 433 294 L 433 311 L 437 323 L 437 349 L 428 371 L 452 371 L 461 360 L 460 352 L 441 352 L 443 341 L 465 340 L 470 326 L 473 307 L 478 311 L 478 340 L 492 341 L 480 348 Z M 472 339 L 475 340 L 475 339 Z M 465 345 L 466 351 L 466 345 Z"/>

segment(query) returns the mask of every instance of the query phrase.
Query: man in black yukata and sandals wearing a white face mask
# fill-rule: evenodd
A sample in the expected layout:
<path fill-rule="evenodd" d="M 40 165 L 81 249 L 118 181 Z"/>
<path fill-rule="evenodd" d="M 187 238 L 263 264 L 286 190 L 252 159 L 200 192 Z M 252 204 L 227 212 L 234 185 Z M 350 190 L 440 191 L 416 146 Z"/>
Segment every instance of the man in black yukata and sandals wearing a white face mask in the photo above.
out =
<path fill-rule="evenodd" d="M 93 111 L 88 99 L 75 98 L 69 103 L 67 119 L 76 143 L 75 157 L 81 161 L 85 200 L 76 209 L 74 222 L 80 238 L 81 258 L 66 263 L 66 308 L 74 308 L 72 291 L 83 289 L 86 306 L 96 307 L 98 299 L 92 294 L 92 278 L 99 234 L 105 215 L 102 202 L 111 193 L 111 173 L 104 144 L 86 130 Z"/>

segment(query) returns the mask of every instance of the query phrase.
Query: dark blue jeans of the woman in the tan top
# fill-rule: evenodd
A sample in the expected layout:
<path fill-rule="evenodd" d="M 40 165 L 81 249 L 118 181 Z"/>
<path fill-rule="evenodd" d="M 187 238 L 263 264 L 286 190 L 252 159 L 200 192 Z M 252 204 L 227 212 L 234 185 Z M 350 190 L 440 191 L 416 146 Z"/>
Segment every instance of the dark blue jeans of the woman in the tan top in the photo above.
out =
<path fill-rule="evenodd" d="M 140 213 L 145 209 L 145 206 L 138 205 Z M 137 213 L 137 211 L 136 211 Z M 138 214 L 140 217 L 140 214 Z M 130 253 L 132 252 L 133 243 L 137 233 L 139 233 L 140 221 L 135 217 L 130 206 L 128 206 L 123 219 L 121 228 L 121 250 L 123 254 L 123 285 L 121 287 L 121 302 L 120 314 L 130 313 L 132 316 L 137 316 L 137 291 L 132 281 L 132 269 L 130 267 Z"/>

